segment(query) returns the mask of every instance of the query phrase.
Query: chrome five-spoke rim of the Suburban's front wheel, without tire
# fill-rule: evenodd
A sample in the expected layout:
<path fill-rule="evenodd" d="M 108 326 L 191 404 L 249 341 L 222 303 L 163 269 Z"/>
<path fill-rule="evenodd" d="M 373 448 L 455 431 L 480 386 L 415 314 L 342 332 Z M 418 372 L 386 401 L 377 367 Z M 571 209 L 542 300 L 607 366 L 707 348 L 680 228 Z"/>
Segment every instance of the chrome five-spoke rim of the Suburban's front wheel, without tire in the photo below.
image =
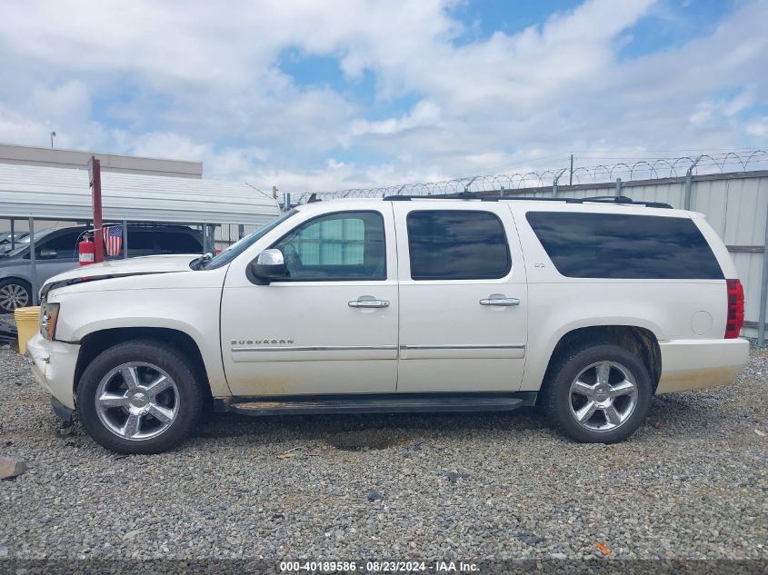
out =
<path fill-rule="evenodd" d="M 95 394 L 96 413 L 118 437 L 141 441 L 157 437 L 175 421 L 179 391 L 152 363 L 128 362 L 106 373 Z"/>

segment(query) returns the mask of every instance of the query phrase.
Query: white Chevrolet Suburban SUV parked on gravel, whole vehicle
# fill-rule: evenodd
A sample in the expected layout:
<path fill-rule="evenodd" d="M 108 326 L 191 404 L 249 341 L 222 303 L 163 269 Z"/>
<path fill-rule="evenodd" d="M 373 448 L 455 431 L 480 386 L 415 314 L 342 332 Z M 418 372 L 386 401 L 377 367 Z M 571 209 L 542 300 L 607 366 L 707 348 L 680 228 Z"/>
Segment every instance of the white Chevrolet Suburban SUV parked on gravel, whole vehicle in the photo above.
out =
<path fill-rule="evenodd" d="M 699 213 L 628 198 L 301 205 L 211 257 L 49 280 L 27 350 L 55 412 L 128 453 L 204 408 L 251 415 L 538 405 L 575 441 L 654 393 L 733 382 L 743 289 Z"/>

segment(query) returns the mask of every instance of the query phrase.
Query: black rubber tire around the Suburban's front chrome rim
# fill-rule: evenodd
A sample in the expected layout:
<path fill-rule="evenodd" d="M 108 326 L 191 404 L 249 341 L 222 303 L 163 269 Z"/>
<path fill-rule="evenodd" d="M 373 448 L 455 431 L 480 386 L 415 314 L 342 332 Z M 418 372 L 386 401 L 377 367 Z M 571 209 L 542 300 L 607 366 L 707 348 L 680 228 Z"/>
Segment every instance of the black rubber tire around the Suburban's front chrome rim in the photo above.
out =
<path fill-rule="evenodd" d="M 96 392 L 105 376 L 115 370 L 117 366 L 132 362 L 152 364 L 170 376 L 171 381 L 175 383 L 175 389 L 170 392 L 173 393 L 174 405 L 177 407 L 175 417 L 170 423 L 165 423 L 167 425 L 165 431 L 159 431 L 158 435 L 147 439 L 127 439 L 119 436 L 102 421 L 99 411 L 102 413 L 104 411 L 96 407 Z M 115 375 L 114 377 L 118 378 L 117 382 L 120 384 L 121 376 Z M 126 393 L 129 392 L 126 391 Z M 80 420 L 83 421 L 85 431 L 88 431 L 88 434 L 97 443 L 117 453 L 159 453 L 174 447 L 185 439 L 199 420 L 203 402 L 204 392 L 201 378 L 195 372 L 193 362 L 175 347 L 155 340 L 134 340 L 118 343 L 101 352 L 85 368 L 77 388 L 77 411 Z M 129 409 L 128 406 L 111 408 L 109 417 L 119 418 L 119 411 L 123 410 L 127 419 Z M 139 419 L 142 418 L 145 418 L 144 414 Z M 163 427 L 160 420 L 150 417 L 142 421 L 146 422 L 147 420 L 150 423 L 156 421 L 160 423 L 158 427 Z M 145 422 L 138 425 L 143 426 Z M 138 430 L 138 427 L 136 429 Z"/>

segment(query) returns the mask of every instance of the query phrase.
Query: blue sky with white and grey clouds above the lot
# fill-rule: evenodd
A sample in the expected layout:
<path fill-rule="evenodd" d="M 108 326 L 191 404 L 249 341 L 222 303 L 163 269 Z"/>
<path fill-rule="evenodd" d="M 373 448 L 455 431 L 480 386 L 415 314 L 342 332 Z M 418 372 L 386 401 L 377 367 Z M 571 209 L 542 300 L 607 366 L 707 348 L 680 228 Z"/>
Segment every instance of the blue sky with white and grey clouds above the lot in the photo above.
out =
<path fill-rule="evenodd" d="M 768 147 L 764 0 L 0 7 L 0 142 L 321 191 Z"/>

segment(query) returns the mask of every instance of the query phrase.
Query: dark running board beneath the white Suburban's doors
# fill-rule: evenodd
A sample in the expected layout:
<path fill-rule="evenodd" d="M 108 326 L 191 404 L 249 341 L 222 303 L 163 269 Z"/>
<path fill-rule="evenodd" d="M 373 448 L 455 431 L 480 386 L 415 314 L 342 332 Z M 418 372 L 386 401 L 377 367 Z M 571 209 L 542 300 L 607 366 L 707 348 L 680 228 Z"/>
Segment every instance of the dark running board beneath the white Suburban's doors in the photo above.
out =
<path fill-rule="evenodd" d="M 215 400 L 216 411 L 243 415 L 404 413 L 429 411 L 513 411 L 534 405 L 535 392 L 474 394 L 382 394 L 232 398 Z"/>

